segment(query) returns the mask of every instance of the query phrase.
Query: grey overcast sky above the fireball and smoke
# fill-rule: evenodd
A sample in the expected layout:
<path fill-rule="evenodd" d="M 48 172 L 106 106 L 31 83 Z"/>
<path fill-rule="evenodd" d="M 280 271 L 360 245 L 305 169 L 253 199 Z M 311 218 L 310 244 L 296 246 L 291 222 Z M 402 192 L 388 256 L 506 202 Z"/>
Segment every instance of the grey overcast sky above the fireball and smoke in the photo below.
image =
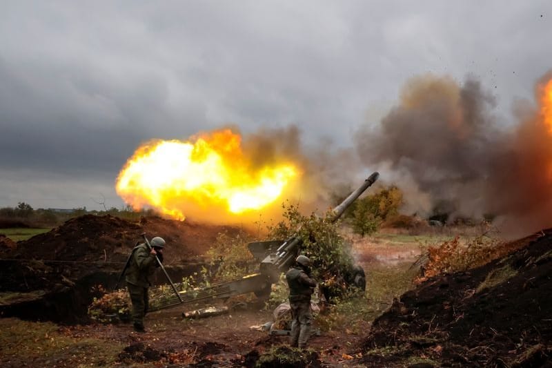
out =
<path fill-rule="evenodd" d="M 296 124 L 353 146 L 404 82 L 475 75 L 511 124 L 552 68 L 552 2 L 2 1 L 0 206 L 121 207 L 141 142 Z"/>

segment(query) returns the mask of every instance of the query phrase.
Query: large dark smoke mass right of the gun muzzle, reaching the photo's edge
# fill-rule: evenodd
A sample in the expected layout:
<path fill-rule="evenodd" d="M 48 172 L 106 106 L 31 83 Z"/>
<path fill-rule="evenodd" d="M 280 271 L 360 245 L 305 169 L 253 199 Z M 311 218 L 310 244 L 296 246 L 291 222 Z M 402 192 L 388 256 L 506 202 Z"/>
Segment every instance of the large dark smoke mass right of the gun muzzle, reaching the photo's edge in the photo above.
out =
<path fill-rule="evenodd" d="M 548 79 L 538 84 L 539 102 Z M 460 85 L 415 77 L 379 125 L 359 131 L 355 145 L 364 164 L 395 173 L 411 211 L 492 213 L 522 231 L 551 226 L 552 135 L 542 106 L 525 106 L 511 130 L 493 117 L 494 107 L 472 77 Z"/>

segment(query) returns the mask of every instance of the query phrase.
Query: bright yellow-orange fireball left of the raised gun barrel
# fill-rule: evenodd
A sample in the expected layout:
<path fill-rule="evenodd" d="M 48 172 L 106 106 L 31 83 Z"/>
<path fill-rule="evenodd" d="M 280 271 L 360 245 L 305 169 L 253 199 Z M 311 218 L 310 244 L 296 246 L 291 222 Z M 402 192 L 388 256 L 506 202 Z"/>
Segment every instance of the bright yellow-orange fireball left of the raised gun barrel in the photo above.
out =
<path fill-rule="evenodd" d="M 117 177 L 117 193 L 135 209 L 144 206 L 184 220 L 186 204 L 240 214 L 275 202 L 299 173 L 288 162 L 253 164 L 231 130 L 192 139 L 152 141 L 137 149 Z"/>

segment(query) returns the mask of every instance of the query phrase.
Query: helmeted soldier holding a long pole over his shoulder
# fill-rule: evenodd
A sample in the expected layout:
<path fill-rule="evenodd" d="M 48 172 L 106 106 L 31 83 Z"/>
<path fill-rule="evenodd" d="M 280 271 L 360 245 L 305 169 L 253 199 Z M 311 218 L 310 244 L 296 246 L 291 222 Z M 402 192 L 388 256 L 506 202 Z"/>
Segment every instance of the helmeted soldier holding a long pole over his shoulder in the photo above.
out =
<path fill-rule="evenodd" d="M 159 267 L 155 257 L 163 262 L 165 240 L 156 236 L 150 241 L 150 245 L 151 251 L 145 243 L 138 244 L 132 249 L 132 258 L 126 271 L 126 284 L 132 301 L 132 322 L 137 332 L 146 332 L 144 317 L 148 313 L 148 287 L 151 286 L 149 278 L 155 272 L 155 268 Z"/>

